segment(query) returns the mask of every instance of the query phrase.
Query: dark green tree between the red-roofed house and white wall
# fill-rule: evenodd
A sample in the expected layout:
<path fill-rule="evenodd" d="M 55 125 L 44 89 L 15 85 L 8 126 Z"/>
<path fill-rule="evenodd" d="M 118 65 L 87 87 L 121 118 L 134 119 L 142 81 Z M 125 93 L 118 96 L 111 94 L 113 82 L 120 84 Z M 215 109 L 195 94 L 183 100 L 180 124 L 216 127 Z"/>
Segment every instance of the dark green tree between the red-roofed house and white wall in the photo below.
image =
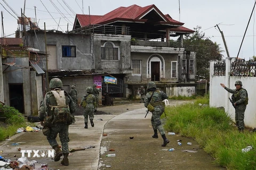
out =
<path fill-rule="evenodd" d="M 209 78 L 210 60 L 221 60 L 222 52 L 220 44 L 213 43 L 209 38 L 205 38 L 205 33 L 200 30 L 201 27 L 194 28 L 195 32 L 184 38 L 183 44 L 194 46 L 196 52 L 196 74 Z"/>

